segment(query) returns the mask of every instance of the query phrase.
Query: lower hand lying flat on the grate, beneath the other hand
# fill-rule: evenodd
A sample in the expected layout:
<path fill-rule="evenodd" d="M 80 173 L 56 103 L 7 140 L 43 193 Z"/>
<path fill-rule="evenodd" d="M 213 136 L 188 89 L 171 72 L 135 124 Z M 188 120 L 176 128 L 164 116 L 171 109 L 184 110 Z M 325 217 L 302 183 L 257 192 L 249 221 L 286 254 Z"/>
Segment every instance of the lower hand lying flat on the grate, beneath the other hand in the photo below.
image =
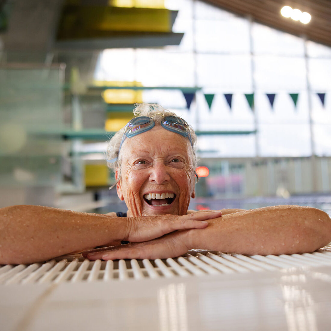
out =
<path fill-rule="evenodd" d="M 189 244 L 188 232 L 180 230 L 163 237 L 140 242 L 119 245 L 101 252 L 85 254 L 89 260 L 120 260 L 120 259 L 166 259 L 185 254 L 192 249 Z"/>

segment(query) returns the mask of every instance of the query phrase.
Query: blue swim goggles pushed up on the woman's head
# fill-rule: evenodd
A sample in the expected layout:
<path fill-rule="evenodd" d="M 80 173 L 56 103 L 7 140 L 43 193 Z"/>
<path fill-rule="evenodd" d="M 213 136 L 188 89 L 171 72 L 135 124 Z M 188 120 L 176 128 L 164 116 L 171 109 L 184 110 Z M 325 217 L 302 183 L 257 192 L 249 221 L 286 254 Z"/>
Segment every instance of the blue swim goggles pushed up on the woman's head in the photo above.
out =
<path fill-rule="evenodd" d="M 154 127 L 154 125 L 155 122 L 152 117 L 139 116 L 132 118 L 124 127 L 124 134 L 121 140 L 121 144 L 119 145 L 118 155 L 126 137 L 128 138 L 134 137 L 139 133 L 143 133 L 145 131 L 150 130 L 151 128 Z M 182 136 L 187 137 L 190 140 L 191 145 L 193 146 L 190 126 L 186 123 L 186 121 L 183 118 L 177 116 L 166 116 L 165 118 L 162 119 L 161 125 L 169 131 L 179 133 Z M 116 162 L 117 159 L 118 157 L 107 161 L 113 163 Z"/>

